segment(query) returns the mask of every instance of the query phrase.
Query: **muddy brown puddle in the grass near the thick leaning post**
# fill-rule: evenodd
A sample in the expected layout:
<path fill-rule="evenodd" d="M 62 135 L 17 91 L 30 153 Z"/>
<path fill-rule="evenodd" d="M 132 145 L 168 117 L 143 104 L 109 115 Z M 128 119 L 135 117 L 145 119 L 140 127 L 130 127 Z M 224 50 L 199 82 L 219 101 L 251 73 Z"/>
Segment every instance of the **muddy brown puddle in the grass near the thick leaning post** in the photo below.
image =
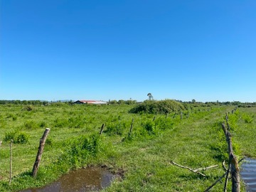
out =
<path fill-rule="evenodd" d="M 110 186 L 114 178 L 117 178 L 110 171 L 101 167 L 88 167 L 70 171 L 63 175 L 58 181 L 50 183 L 43 188 L 29 188 L 19 192 L 84 192 L 84 191 L 100 191 L 102 188 Z"/>

